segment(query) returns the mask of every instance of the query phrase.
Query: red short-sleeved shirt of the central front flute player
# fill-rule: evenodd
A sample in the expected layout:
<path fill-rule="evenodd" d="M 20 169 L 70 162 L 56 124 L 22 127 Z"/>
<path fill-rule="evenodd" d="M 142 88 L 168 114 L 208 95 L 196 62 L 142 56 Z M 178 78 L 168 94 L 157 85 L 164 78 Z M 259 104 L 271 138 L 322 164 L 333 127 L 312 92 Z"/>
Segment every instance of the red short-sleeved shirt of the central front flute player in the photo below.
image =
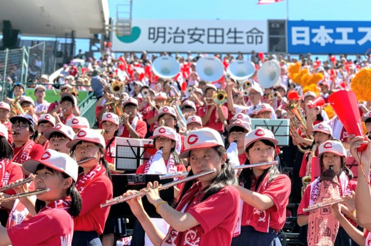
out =
<path fill-rule="evenodd" d="M 201 186 L 200 186 L 201 188 Z M 230 245 L 238 219 L 240 194 L 232 186 L 223 187 L 219 192 L 199 202 L 200 191 L 190 201 L 186 213 L 198 223 L 184 232 L 178 232 L 181 242 L 196 243 L 199 246 Z"/>

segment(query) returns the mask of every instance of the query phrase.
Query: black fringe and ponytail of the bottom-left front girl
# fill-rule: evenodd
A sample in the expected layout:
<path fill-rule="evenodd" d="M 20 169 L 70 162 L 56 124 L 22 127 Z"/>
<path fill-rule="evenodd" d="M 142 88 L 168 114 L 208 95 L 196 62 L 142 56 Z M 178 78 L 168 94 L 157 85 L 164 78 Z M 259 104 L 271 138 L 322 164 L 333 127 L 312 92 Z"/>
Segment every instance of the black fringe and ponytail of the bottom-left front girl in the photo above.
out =
<path fill-rule="evenodd" d="M 57 174 L 58 176 L 62 175 L 63 178 L 69 178 L 70 176 L 68 176 L 68 174 L 66 173 L 62 173 L 60 171 L 57 171 L 53 168 L 50 168 L 50 167 L 46 167 L 45 165 L 43 164 L 39 164 L 37 165 L 36 167 L 36 171 L 38 170 L 42 170 L 42 169 L 46 169 L 52 173 L 55 173 Z M 79 215 L 79 213 L 81 212 L 81 207 L 82 207 L 82 200 L 81 200 L 81 196 L 79 194 L 79 191 L 76 189 L 75 187 L 75 181 L 72 180 L 72 184 L 71 186 L 67 189 L 67 196 L 70 196 L 71 197 L 71 207 L 70 209 L 68 210 L 68 213 L 72 216 L 72 217 L 76 217 Z M 35 210 L 36 210 L 36 213 L 39 213 L 39 211 L 46 206 L 46 203 L 45 201 L 42 201 L 42 200 L 39 200 L 39 199 L 36 199 L 36 202 L 35 202 Z"/>

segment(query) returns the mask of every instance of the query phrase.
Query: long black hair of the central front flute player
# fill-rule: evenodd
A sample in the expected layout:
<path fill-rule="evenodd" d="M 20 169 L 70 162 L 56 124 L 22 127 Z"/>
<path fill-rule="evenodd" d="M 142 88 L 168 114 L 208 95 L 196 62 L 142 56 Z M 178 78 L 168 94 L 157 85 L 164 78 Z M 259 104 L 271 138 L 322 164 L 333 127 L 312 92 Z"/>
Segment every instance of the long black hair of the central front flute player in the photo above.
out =
<path fill-rule="evenodd" d="M 221 145 L 213 147 L 213 148 L 218 153 L 219 157 L 222 157 L 224 154 L 227 154 L 226 149 Z M 193 172 L 191 170 L 189 171 L 188 177 L 192 175 L 193 175 Z M 174 208 L 178 206 L 181 198 L 189 190 L 189 188 L 191 188 L 194 182 L 195 181 L 193 180 L 185 182 L 184 187 L 179 196 L 180 199 L 178 199 L 177 203 L 173 205 Z M 214 178 L 214 180 L 206 188 L 206 190 L 204 190 L 205 195 L 202 197 L 200 202 L 206 200 L 208 197 L 219 192 L 225 186 L 237 186 L 237 184 L 238 184 L 238 181 L 237 181 L 236 174 L 234 173 L 233 166 L 230 163 L 229 159 L 227 159 L 225 163 L 221 164 L 221 170 L 218 176 L 216 176 L 216 178 Z"/>

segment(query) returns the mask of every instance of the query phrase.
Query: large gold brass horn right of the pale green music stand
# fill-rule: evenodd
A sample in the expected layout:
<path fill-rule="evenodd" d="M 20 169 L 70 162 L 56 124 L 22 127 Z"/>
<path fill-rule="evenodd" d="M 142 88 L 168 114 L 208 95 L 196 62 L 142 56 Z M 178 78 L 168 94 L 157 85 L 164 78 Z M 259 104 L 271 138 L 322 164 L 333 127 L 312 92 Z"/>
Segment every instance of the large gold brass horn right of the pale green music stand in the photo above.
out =
<path fill-rule="evenodd" d="M 292 115 L 290 119 L 290 135 L 297 136 L 298 129 L 300 128 L 302 133 L 306 138 L 313 139 L 311 135 L 308 135 L 306 132 L 306 119 L 300 109 L 300 104 L 297 101 L 290 102 L 289 105 L 285 107 L 286 111 Z M 300 152 L 305 153 L 309 150 L 310 146 L 305 145 L 306 147 L 301 147 L 298 145 Z"/>

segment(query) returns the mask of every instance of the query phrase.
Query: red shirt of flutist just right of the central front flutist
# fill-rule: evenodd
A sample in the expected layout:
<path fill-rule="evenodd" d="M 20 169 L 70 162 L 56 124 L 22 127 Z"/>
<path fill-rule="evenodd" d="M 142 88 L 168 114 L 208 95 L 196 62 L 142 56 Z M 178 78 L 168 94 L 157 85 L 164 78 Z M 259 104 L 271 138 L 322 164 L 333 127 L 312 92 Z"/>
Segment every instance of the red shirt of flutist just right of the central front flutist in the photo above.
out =
<path fill-rule="evenodd" d="M 255 191 L 255 184 L 258 178 L 259 177 L 257 177 L 252 184 L 252 191 Z M 267 184 L 267 187 L 262 192 L 260 192 L 260 194 L 269 196 L 270 199 L 273 200 L 274 205 L 269 209 L 264 210 L 260 214 L 259 219 L 264 220 L 269 216 L 269 227 L 277 231 L 282 229 L 286 221 L 286 206 L 289 202 L 290 190 L 290 178 L 286 175 L 280 174 L 272 182 Z M 247 203 L 243 203 L 241 225 L 253 226 L 257 231 L 266 232 L 260 229 L 259 221 L 250 221 L 249 223 L 247 223 L 250 214 L 252 213 L 254 213 L 254 207 L 250 206 Z"/>

